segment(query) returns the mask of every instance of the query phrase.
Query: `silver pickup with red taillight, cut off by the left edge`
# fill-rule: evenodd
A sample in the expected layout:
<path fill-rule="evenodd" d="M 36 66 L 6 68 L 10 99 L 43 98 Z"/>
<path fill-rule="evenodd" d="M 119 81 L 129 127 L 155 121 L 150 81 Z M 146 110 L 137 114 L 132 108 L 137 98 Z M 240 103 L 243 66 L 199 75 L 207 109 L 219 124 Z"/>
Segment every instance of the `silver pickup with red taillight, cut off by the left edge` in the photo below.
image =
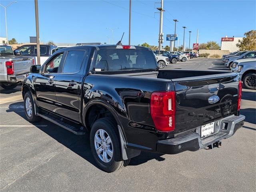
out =
<path fill-rule="evenodd" d="M 34 64 L 35 57 L 16 57 L 10 45 L 0 44 L 0 86 L 14 89 Z"/>

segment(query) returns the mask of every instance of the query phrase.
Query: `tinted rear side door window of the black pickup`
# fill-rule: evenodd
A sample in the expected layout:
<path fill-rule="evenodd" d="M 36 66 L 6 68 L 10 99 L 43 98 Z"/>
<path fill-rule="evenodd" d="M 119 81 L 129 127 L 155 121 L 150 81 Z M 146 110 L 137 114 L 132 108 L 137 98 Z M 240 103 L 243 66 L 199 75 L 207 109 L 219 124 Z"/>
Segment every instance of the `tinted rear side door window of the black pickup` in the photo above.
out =
<path fill-rule="evenodd" d="M 68 51 L 62 73 L 80 71 L 86 51 Z"/>

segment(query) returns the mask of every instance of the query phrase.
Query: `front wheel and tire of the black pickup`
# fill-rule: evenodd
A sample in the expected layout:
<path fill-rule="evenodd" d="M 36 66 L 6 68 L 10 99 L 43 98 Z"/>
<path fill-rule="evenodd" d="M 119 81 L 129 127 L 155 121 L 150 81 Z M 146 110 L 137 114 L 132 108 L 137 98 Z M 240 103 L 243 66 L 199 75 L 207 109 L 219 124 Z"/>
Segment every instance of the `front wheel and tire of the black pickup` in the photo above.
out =
<path fill-rule="evenodd" d="M 25 109 L 26 119 L 29 122 L 40 121 L 41 118 L 36 116 L 35 114 L 34 101 L 30 91 L 27 91 L 24 95 L 24 109 Z"/>

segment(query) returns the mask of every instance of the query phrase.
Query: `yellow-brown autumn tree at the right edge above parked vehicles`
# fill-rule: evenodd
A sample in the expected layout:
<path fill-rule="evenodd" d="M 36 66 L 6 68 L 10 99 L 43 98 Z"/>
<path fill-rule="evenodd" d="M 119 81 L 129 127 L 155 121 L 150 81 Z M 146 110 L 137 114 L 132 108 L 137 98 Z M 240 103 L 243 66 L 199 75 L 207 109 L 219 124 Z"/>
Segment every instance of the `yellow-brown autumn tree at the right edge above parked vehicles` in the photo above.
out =
<path fill-rule="evenodd" d="M 240 51 L 254 51 L 256 49 L 256 30 L 251 30 L 244 33 L 246 37 L 241 40 L 238 40 L 236 46 Z"/>

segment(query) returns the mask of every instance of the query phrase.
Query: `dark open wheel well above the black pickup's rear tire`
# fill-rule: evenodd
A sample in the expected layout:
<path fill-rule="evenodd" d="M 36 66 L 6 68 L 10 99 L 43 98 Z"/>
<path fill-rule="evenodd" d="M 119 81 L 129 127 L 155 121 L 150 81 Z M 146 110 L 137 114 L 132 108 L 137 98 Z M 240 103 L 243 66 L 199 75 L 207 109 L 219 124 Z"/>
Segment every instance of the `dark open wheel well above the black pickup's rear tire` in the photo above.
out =
<path fill-rule="evenodd" d="M 85 125 L 88 131 L 91 130 L 93 123 L 103 117 L 112 117 L 116 122 L 114 115 L 103 105 L 95 104 L 90 106 L 85 116 Z"/>

